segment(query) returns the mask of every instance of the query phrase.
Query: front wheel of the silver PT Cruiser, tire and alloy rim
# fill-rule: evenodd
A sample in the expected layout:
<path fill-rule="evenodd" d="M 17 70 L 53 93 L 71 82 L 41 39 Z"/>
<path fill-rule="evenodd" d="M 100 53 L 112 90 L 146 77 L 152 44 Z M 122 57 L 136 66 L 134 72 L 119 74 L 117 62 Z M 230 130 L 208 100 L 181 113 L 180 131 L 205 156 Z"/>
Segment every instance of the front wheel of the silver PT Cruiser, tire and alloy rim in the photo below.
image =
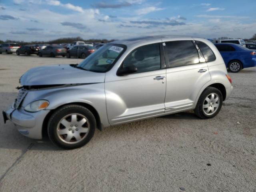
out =
<path fill-rule="evenodd" d="M 63 106 L 48 122 L 48 136 L 57 146 L 74 149 L 84 146 L 94 135 L 96 120 L 92 112 L 79 105 Z"/>

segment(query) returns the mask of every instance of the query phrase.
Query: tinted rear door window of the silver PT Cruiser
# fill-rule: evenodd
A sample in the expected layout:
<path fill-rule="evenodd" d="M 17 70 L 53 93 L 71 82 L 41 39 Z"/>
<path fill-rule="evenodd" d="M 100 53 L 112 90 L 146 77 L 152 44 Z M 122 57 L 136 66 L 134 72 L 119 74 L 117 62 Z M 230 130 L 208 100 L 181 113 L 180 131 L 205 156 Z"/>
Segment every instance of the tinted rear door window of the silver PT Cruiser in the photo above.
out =
<path fill-rule="evenodd" d="M 164 52 L 167 55 L 167 67 L 179 67 L 199 63 L 196 47 L 190 40 L 165 42 Z"/>

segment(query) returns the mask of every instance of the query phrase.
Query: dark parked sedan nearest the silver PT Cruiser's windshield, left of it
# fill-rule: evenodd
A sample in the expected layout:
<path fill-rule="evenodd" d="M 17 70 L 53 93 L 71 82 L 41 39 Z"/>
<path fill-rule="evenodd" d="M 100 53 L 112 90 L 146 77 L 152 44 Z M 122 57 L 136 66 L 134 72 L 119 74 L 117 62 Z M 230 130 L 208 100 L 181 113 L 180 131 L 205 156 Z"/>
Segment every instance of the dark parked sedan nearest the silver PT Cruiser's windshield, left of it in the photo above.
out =
<path fill-rule="evenodd" d="M 95 50 L 96 48 L 92 46 L 77 45 L 74 46 L 72 49 L 67 50 L 66 58 L 78 57 L 84 59 L 92 54 Z"/>

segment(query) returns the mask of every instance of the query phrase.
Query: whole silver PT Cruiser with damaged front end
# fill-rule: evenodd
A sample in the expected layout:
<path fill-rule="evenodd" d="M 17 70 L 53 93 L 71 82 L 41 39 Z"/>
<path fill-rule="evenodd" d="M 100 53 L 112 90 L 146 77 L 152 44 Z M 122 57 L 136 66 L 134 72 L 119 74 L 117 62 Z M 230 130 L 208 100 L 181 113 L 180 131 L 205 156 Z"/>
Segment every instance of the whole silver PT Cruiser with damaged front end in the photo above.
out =
<path fill-rule="evenodd" d="M 84 146 L 96 128 L 187 110 L 212 118 L 232 92 L 217 48 L 184 36 L 111 42 L 80 64 L 32 68 L 20 84 L 4 121 L 29 138 L 47 130 L 66 149 Z"/>

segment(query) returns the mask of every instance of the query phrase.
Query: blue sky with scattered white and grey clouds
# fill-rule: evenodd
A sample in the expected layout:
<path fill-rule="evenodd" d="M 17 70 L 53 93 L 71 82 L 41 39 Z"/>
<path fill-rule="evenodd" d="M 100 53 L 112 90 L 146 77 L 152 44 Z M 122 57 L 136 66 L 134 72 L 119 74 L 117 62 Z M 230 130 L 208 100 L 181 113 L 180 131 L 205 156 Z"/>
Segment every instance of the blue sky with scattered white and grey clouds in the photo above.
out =
<path fill-rule="evenodd" d="M 255 0 L 0 0 L 0 40 L 255 33 Z"/>

